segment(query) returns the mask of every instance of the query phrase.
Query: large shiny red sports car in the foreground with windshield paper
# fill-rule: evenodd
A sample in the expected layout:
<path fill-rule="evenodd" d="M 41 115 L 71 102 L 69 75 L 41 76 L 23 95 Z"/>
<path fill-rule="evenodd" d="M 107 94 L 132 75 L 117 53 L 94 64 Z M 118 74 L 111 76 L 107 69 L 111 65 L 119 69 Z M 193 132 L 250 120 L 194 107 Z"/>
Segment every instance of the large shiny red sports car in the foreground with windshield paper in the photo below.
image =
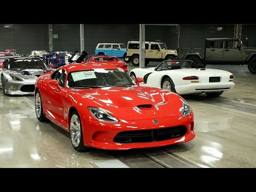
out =
<path fill-rule="evenodd" d="M 149 148 L 195 138 L 194 115 L 180 95 L 135 84 L 105 63 L 70 64 L 39 76 L 35 111 L 70 133 L 77 151 Z"/>

